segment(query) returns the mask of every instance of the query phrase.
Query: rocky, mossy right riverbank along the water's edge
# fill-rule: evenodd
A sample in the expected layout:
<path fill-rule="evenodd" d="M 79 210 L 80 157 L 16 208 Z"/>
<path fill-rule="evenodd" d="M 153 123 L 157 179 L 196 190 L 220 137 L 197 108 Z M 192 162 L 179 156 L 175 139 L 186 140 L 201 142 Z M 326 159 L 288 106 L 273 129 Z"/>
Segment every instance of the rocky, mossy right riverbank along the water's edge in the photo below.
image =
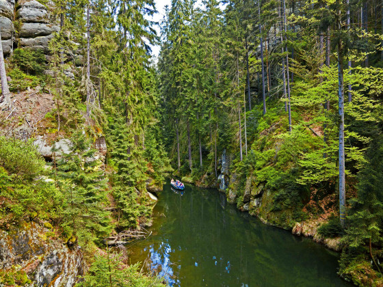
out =
<path fill-rule="evenodd" d="M 223 176 L 220 177 L 223 178 Z M 294 236 L 298 236 L 298 238 L 309 238 L 314 243 L 323 245 L 337 253 L 341 253 L 347 248 L 343 236 L 326 237 L 319 232 L 321 228 L 326 229 L 327 226 L 331 225 L 334 219 L 337 222 L 336 217 L 334 217 L 336 209 L 334 204 L 331 204 L 331 202 L 336 202 L 334 199 L 324 197 L 320 200 L 317 205 L 321 206 L 321 210 L 324 212 L 321 215 L 315 215 L 313 213 L 315 202 L 311 198 L 306 205 L 301 206 L 302 213 L 298 213 L 297 216 L 294 215 L 293 210 L 283 210 L 282 208 L 275 210 L 273 208 L 275 206 L 275 197 L 273 197 L 271 191 L 265 189 L 266 184 L 256 185 L 253 179 L 249 180 L 248 178 L 244 180 L 245 184 L 243 182 L 241 184 L 240 177 L 237 174 L 228 174 L 227 178 L 229 183 L 226 189 L 220 188 L 224 184 L 219 181 L 217 184 L 207 184 L 207 182 L 211 182 L 211 178 L 206 175 L 199 180 L 193 180 L 192 176 L 189 176 L 186 181 L 202 189 L 217 189 L 226 196 L 228 203 L 236 206 L 237 210 L 258 218 L 267 226 L 287 230 Z M 252 177 L 250 176 L 250 178 Z M 183 180 L 185 180 L 185 177 Z M 311 196 L 313 197 L 313 195 Z M 304 220 L 295 220 L 297 217 Z M 343 269 L 343 273 L 339 273 L 339 269 L 334 272 L 346 282 L 352 282 L 356 286 L 382 286 L 382 279 L 379 277 L 378 272 L 374 271 L 371 263 L 362 256 L 355 258 L 346 269 Z"/>

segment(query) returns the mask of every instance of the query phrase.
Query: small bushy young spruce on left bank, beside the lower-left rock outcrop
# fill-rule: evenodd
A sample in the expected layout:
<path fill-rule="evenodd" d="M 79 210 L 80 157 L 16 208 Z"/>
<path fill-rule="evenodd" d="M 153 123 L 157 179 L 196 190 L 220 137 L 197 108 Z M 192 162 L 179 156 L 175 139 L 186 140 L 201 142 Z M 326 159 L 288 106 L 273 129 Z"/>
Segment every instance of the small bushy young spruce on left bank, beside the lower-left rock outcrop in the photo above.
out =
<path fill-rule="evenodd" d="M 111 231 L 109 213 L 103 208 L 106 202 L 105 174 L 94 159 L 96 150 L 82 131 L 70 137 L 70 153 L 57 161 L 58 185 L 65 193 L 63 202 L 67 234 L 91 234 L 89 241 L 98 241 Z M 55 172 L 55 171 L 53 171 Z M 81 239 L 86 239 L 79 236 Z"/>

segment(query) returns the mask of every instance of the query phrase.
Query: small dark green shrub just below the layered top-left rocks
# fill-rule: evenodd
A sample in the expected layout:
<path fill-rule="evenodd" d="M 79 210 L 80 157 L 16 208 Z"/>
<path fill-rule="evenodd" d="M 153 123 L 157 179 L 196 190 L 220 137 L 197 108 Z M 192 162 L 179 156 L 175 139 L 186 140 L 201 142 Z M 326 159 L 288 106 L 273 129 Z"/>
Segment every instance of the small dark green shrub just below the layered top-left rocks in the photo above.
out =
<path fill-rule="evenodd" d="M 12 64 L 27 74 L 39 74 L 45 68 L 45 55 L 41 49 L 15 49 L 11 57 Z"/>

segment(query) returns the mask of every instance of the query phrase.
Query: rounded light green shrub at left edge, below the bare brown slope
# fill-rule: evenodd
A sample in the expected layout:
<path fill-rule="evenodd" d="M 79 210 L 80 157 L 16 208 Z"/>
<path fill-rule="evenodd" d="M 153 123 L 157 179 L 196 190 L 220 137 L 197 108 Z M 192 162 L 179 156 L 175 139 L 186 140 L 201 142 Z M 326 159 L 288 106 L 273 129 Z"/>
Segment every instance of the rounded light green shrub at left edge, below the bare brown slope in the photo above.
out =
<path fill-rule="evenodd" d="M 31 179 L 42 173 L 45 161 L 31 141 L 0 137 L 0 165 L 9 174 Z"/>

